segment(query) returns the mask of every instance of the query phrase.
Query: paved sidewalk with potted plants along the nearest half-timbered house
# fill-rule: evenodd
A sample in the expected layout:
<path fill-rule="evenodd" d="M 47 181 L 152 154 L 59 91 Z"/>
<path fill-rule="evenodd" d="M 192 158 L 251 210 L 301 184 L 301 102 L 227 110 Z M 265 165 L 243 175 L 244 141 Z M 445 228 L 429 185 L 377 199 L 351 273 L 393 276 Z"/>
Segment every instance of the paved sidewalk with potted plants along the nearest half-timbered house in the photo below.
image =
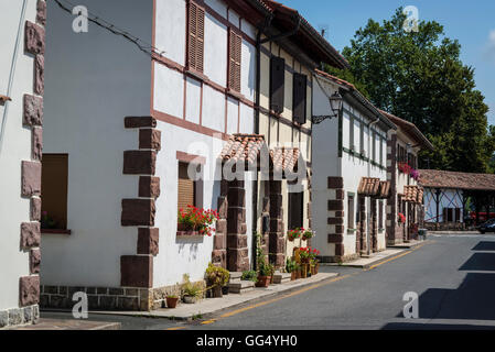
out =
<path fill-rule="evenodd" d="M 195 305 L 180 304 L 175 309 L 163 308 L 153 311 L 90 311 L 90 314 L 168 318 L 174 320 L 191 320 L 196 317 L 204 319 L 205 316 L 218 314 L 224 309 L 232 309 L 260 298 L 268 299 L 270 297 L 311 286 L 336 276 L 338 276 L 338 274 L 319 273 L 318 275 L 309 278 L 288 282 L 280 285 L 270 285 L 268 288 L 255 288 L 241 295 L 229 294 L 224 295 L 223 298 L 206 298 Z"/>

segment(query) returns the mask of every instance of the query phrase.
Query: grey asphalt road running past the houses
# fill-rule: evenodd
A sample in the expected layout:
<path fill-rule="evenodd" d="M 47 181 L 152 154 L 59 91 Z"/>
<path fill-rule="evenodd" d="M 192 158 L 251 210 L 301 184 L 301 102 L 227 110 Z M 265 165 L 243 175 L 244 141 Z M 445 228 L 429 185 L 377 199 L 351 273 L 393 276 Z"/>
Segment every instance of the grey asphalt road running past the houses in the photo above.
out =
<path fill-rule="evenodd" d="M 421 248 L 373 270 L 326 266 L 341 279 L 206 323 L 96 316 L 122 329 L 493 329 L 495 235 L 430 237 Z M 406 319 L 406 293 L 419 297 L 419 319 Z M 63 314 L 42 317 L 66 318 Z"/>

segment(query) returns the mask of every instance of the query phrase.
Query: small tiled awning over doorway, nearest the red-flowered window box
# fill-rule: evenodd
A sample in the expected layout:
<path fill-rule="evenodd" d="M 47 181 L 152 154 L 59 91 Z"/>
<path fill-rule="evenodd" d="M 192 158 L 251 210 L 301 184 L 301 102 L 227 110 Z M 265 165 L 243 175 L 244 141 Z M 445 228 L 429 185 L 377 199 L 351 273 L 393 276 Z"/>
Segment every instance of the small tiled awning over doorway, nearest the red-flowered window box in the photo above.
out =
<path fill-rule="evenodd" d="M 255 164 L 265 145 L 261 134 L 234 134 L 220 153 L 224 162 Z"/>

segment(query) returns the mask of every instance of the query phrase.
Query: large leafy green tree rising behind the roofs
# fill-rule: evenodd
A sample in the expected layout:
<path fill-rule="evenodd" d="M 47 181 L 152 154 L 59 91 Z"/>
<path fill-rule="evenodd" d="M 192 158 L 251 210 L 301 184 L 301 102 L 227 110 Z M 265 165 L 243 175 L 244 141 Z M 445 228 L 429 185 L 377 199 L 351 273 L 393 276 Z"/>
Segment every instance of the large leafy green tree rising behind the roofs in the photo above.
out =
<path fill-rule="evenodd" d="M 329 69 L 349 80 L 380 109 L 415 123 L 435 146 L 420 154 L 420 166 L 487 172 L 495 152 L 488 107 L 475 89 L 474 69 L 461 59 L 461 45 L 444 36 L 434 21 L 418 32 L 402 28 L 396 10 L 383 24 L 369 20 L 345 47 L 351 72 Z"/>

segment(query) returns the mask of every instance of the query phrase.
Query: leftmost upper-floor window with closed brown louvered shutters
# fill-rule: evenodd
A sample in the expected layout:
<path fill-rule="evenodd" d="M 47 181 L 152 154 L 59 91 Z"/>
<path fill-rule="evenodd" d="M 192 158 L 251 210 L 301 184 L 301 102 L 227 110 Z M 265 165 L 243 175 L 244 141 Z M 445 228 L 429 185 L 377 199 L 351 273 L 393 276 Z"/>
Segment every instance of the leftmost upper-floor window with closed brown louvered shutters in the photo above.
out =
<path fill-rule="evenodd" d="M 205 10 L 189 3 L 187 69 L 203 73 L 205 43 Z"/>

